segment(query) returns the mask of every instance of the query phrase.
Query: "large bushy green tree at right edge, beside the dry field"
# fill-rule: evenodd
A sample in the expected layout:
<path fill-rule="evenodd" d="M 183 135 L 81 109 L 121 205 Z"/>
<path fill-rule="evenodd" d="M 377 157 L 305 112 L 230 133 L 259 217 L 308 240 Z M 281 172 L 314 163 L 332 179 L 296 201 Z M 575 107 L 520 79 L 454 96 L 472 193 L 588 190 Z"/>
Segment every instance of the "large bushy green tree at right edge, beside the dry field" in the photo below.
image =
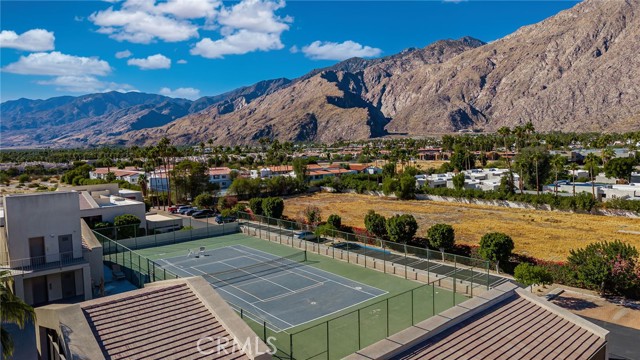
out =
<path fill-rule="evenodd" d="M 567 258 L 578 280 L 601 294 L 640 296 L 638 250 L 620 240 L 571 250 Z"/>

